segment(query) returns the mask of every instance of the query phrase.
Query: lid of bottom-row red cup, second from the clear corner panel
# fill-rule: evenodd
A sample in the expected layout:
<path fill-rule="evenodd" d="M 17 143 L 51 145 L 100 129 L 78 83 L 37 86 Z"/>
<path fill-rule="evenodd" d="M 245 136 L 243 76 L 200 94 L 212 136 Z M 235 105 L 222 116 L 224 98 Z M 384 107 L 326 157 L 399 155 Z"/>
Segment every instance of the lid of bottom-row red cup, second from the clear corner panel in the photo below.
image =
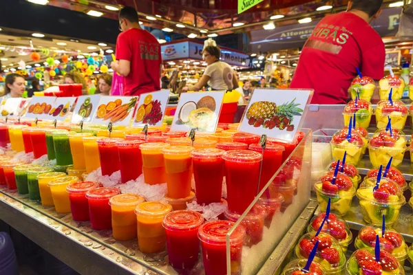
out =
<path fill-rule="evenodd" d="M 204 222 L 202 214 L 192 210 L 177 210 L 168 213 L 162 221 L 164 228 L 173 230 L 191 230 Z"/>

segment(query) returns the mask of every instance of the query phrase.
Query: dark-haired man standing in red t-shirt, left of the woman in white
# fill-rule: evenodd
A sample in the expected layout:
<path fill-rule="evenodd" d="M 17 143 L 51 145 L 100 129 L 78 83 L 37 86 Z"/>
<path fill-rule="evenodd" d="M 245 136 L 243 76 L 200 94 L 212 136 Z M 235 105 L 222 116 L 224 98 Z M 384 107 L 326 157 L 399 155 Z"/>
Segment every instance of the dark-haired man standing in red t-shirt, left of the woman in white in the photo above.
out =
<path fill-rule="evenodd" d="M 160 90 L 162 56 L 158 40 L 142 30 L 138 12 L 125 7 L 119 12 L 122 33 L 116 42 L 116 59 L 111 64 L 115 72 L 124 76 L 124 96 L 139 96 Z"/>

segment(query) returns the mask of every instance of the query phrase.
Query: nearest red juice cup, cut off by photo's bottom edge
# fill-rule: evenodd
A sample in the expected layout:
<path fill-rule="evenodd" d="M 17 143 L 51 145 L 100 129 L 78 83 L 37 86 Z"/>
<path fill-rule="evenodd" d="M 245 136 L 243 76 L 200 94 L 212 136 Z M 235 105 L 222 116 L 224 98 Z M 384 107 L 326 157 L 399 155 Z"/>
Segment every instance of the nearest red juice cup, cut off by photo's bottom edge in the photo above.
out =
<path fill-rule="evenodd" d="M 201 241 L 205 275 L 225 275 L 226 234 L 233 228 L 232 221 L 209 221 L 200 226 L 198 238 Z M 242 244 L 245 229 L 238 225 L 229 236 L 231 250 L 231 274 L 241 274 Z"/>

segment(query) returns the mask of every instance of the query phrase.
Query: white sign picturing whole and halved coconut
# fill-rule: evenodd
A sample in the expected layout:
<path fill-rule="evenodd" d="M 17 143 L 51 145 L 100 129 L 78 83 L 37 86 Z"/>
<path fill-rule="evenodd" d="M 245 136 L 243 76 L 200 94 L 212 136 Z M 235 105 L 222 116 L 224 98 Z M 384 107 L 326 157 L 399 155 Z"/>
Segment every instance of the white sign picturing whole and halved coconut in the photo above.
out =
<path fill-rule="evenodd" d="M 171 131 L 215 132 L 224 99 L 224 91 L 184 93 L 171 124 Z"/>

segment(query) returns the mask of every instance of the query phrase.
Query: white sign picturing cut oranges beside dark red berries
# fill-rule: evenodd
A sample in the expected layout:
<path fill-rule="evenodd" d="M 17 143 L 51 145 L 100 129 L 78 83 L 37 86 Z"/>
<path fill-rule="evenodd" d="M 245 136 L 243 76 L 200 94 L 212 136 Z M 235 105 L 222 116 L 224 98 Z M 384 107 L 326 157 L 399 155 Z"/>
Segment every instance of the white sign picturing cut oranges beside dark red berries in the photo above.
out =
<path fill-rule="evenodd" d="M 141 94 L 132 126 L 161 126 L 167 109 L 169 90 L 154 91 Z"/>

